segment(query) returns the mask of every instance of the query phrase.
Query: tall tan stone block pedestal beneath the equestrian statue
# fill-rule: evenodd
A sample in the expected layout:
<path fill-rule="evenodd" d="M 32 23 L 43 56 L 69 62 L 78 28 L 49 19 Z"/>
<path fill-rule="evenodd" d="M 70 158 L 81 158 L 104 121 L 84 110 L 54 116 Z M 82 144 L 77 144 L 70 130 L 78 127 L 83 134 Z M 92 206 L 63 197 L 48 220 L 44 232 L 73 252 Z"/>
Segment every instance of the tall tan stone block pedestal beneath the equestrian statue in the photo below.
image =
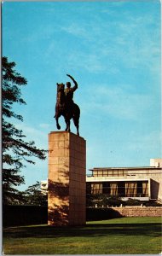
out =
<path fill-rule="evenodd" d="M 85 224 L 85 144 L 71 132 L 49 133 L 49 225 Z"/>

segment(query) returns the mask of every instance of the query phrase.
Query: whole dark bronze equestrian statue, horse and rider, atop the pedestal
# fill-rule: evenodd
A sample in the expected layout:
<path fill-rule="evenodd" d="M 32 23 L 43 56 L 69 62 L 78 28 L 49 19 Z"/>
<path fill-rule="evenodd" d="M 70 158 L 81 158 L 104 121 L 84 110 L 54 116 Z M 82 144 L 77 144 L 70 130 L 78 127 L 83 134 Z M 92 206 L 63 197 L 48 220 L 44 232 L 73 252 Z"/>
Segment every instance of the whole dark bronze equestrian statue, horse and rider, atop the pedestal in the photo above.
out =
<path fill-rule="evenodd" d="M 71 75 L 67 74 L 67 76 L 72 79 L 74 86 L 71 87 L 71 83 L 67 82 L 67 88 L 65 89 L 65 84 L 57 83 L 57 96 L 55 104 L 56 126 L 58 130 L 61 129 L 61 125 L 59 125 L 59 118 L 63 116 L 67 125 L 66 131 L 70 131 L 70 120 L 72 119 L 77 128 L 77 134 L 79 136 L 78 127 L 80 109 L 78 108 L 78 105 L 73 102 L 73 92 L 78 89 L 78 84 Z"/>

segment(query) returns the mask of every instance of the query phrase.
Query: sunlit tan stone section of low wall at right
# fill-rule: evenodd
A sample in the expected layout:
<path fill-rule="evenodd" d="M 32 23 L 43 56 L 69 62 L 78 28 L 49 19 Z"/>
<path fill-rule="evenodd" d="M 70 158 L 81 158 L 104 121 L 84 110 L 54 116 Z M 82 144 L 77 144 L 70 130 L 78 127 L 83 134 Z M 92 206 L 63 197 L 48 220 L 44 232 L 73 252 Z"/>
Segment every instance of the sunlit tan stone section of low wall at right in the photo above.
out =
<path fill-rule="evenodd" d="M 112 207 L 123 217 L 160 217 L 162 207 Z"/>

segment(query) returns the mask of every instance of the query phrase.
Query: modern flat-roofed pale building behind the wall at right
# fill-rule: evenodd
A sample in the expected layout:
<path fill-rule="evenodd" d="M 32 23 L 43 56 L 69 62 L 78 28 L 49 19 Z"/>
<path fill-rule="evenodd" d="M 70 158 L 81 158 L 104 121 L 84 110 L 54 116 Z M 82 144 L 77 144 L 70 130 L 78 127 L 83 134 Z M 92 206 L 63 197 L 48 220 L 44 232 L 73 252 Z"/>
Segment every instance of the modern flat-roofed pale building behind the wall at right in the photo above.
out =
<path fill-rule="evenodd" d="M 162 159 L 145 167 L 95 167 L 86 177 L 87 194 L 162 201 Z"/>

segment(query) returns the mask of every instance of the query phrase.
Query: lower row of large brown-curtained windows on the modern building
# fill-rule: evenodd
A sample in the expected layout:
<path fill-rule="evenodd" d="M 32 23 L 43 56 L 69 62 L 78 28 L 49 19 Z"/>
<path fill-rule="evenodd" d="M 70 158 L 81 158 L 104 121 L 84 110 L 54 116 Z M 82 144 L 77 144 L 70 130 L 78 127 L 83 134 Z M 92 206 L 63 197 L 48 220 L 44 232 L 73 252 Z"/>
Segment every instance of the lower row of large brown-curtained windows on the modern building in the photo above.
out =
<path fill-rule="evenodd" d="M 148 197 L 148 182 L 87 183 L 87 194 L 106 194 L 123 197 Z"/>

